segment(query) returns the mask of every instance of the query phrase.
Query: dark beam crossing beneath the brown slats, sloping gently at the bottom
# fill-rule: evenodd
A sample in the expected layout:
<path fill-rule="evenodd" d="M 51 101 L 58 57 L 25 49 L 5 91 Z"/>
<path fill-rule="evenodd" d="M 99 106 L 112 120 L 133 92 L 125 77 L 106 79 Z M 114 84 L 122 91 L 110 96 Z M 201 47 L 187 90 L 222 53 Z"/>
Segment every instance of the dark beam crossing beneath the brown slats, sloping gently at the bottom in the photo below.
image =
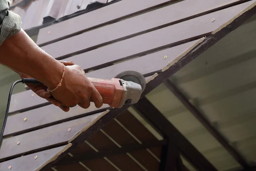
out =
<path fill-rule="evenodd" d="M 72 160 L 70 160 L 70 158 L 67 158 L 67 159 L 64 158 L 63 160 L 60 160 L 58 163 L 56 163 L 56 165 L 67 165 L 72 163 L 78 163 L 84 160 L 94 160 L 94 159 L 113 156 L 117 154 L 125 154 L 131 151 L 139 151 L 139 150 L 148 149 L 151 147 L 164 146 L 166 144 L 167 144 L 167 140 L 160 140 L 160 141 L 152 140 L 143 144 L 132 144 L 132 145 L 122 146 L 122 148 L 116 147 L 114 149 L 113 148 L 105 149 L 93 154 L 90 154 L 90 153 L 76 154 L 75 156 L 72 157 Z M 70 153 L 72 154 L 72 151 Z"/>

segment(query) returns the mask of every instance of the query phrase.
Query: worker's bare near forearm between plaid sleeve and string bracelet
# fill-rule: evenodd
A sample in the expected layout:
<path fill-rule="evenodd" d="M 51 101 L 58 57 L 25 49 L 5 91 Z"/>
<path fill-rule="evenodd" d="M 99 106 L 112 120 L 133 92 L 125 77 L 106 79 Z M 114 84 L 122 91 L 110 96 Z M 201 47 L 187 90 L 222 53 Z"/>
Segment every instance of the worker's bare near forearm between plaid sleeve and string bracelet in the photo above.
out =
<path fill-rule="evenodd" d="M 57 86 L 63 72 L 62 64 L 39 48 L 23 30 L 0 46 L 0 63 L 41 81 L 51 89 Z"/>

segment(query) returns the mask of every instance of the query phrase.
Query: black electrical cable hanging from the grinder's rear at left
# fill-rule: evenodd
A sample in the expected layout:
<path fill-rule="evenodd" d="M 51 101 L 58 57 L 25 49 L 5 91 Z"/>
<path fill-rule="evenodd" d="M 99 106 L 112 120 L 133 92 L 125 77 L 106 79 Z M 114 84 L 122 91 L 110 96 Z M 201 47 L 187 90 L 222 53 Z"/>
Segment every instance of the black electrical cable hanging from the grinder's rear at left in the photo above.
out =
<path fill-rule="evenodd" d="M 13 90 L 14 86 L 18 83 L 42 84 L 41 82 L 39 82 L 35 79 L 32 79 L 32 78 L 23 78 L 22 80 L 15 81 L 12 84 L 12 86 L 9 90 L 8 101 L 7 101 L 7 106 L 6 106 L 6 113 L 4 115 L 3 126 L 2 126 L 1 134 L 0 134 L 0 146 L 2 144 L 3 132 L 4 132 L 4 129 L 5 129 L 5 126 L 6 126 L 6 121 L 7 121 L 7 117 L 8 117 L 8 113 L 9 113 L 9 107 L 10 107 L 11 97 L 12 97 L 12 90 Z"/>

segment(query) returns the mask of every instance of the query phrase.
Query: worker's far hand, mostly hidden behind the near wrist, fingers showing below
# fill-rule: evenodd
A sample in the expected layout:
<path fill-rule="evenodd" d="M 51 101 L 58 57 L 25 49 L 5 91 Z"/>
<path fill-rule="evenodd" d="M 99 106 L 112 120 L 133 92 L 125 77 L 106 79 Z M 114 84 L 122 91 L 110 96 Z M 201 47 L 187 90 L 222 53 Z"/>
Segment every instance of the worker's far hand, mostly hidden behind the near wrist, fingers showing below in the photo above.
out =
<path fill-rule="evenodd" d="M 66 62 L 66 61 L 58 61 L 63 63 L 65 66 L 73 65 L 73 62 Z M 20 78 L 32 78 L 30 76 L 27 76 L 23 73 L 19 73 Z M 49 101 L 51 104 L 54 104 L 55 106 L 60 107 L 63 111 L 68 112 L 69 107 L 61 106 L 61 103 L 57 101 L 50 92 L 47 92 L 47 86 L 43 84 L 26 84 L 34 93 L 36 93 L 39 97 L 45 98 L 47 101 Z"/>

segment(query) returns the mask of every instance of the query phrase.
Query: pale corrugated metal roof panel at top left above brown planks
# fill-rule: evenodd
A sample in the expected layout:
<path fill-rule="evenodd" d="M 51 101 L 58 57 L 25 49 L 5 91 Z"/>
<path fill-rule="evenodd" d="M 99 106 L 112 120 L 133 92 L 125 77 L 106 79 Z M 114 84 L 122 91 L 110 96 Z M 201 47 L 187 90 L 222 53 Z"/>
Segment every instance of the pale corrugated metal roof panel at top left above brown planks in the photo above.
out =
<path fill-rule="evenodd" d="M 28 1 L 28 0 L 26 0 Z M 22 28 L 28 29 L 43 24 L 44 17 L 60 19 L 88 8 L 90 4 L 104 4 L 108 0 L 30 0 L 26 3 L 18 1 L 11 11 L 20 15 Z M 24 5 L 25 4 L 25 5 Z"/>

